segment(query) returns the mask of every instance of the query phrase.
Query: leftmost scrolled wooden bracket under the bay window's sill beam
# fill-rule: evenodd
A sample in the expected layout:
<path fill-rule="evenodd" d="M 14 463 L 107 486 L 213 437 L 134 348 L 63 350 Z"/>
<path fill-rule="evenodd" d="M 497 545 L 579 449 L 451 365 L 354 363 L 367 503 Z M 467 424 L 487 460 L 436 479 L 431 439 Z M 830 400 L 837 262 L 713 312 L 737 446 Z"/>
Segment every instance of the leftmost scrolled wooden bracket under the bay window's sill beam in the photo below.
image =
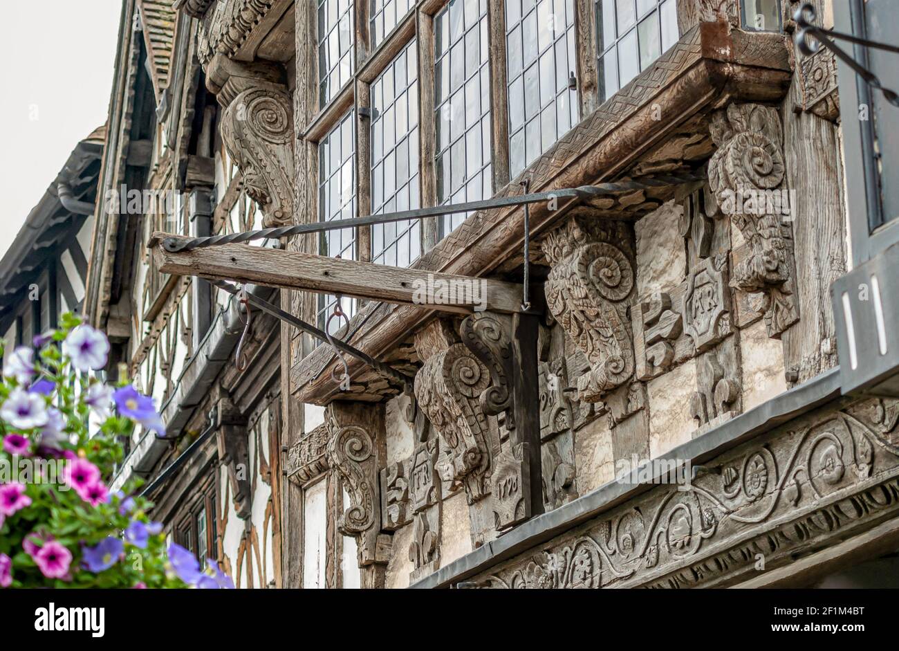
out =
<path fill-rule="evenodd" d="M 327 408 L 328 463 L 343 479 L 349 507 L 337 522 L 359 541 L 359 566 L 386 564 L 389 536 L 381 534 L 378 461 L 385 456 L 384 407 L 334 402 Z M 382 540 L 386 539 L 386 540 Z"/>

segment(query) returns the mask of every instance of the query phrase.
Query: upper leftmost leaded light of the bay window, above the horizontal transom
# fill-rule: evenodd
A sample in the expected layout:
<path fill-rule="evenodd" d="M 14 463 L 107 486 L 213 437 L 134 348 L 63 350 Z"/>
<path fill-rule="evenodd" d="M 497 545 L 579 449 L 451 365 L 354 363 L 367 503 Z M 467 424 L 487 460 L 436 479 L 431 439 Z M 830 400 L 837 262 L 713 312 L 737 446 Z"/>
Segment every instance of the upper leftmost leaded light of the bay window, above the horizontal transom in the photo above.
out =
<path fill-rule="evenodd" d="M 318 96 L 331 102 L 355 70 L 353 0 L 318 0 Z"/>

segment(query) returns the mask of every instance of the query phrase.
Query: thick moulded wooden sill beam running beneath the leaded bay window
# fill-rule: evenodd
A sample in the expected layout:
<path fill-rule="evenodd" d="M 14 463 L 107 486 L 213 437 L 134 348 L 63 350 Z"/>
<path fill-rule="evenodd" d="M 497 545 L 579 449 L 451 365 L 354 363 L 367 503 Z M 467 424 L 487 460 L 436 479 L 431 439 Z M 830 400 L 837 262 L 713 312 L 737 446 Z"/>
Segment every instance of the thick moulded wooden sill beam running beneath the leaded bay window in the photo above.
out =
<path fill-rule="evenodd" d="M 725 22 L 702 22 L 685 33 L 636 79 L 565 134 L 524 173 L 530 190 L 576 187 L 610 180 L 653 159 L 690 120 L 705 120 L 713 106 L 742 99 L 776 102 L 786 93 L 791 78 L 788 40 L 780 34 L 730 29 Z M 660 114 L 663 120 L 658 120 Z M 696 133 L 690 134 L 695 137 Z M 673 147 L 673 146 L 672 146 Z M 674 147 L 681 160 L 699 164 L 708 157 L 704 143 Z M 694 152 L 694 153 L 689 153 Z M 497 196 L 520 193 L 517 180 Z M 667 201 L 660 194 L 656 201 Z M 556 226 L 572 206 L 559 210 L 535 205 L 530 210 L 532 232 Z M 523 210 L 485 210 L 424 254 L 414 268 L 485 276 L 497 267 L 514 263 L 521 254 Z M 354 317 L 353 344 L 383 358 L 432 317 L 414 306 L 362 308 Z M 290 390 L 303 402 L 318 405 L 333 399 L 337 388 L 329 375 L 331 352 L 319 348 L 291 370 Z M 353 377 L 364 372 L 360 362 L 349 361 Z"/>

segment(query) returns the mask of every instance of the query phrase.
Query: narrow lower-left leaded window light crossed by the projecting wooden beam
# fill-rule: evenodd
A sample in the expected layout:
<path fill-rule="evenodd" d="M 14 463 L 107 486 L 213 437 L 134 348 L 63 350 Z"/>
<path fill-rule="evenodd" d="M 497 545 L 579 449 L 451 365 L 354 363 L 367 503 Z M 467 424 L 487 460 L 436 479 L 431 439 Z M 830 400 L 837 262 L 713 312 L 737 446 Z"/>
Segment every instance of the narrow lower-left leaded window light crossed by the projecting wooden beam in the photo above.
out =
<path fill-rule="evenodd" d="M 350 219 L 356 214 L 356 138 L 352 112 L 347 113 L 318 144 L 318 218 L 319 221 Z M 323 232 L 319 237 L 319 254 L 355 259 L 355 228 L 339 228 Z M 334 312 L 334 296 L 319 295 L 318 326 L 325 328 L 327 317 Z M 355 300 L 343 297 L 341 307 L 352 316 Z M 335 332 L 342 319 L 331 321 Z"/>

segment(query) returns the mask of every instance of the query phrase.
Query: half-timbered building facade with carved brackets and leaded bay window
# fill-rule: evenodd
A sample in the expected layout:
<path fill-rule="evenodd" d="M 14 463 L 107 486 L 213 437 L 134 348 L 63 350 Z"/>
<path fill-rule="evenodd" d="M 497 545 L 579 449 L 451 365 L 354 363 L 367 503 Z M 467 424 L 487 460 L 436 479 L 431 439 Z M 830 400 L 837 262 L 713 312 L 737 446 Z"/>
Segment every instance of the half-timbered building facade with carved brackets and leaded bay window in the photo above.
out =
<path fill-rule="evenodd" d="M 243 587 L 891 562 L 899 109 L 793 38 L 883 4 L 126 0 L 101 188 L 174 199 L 94 227 L 167 424 L 120 481 Z"/>

